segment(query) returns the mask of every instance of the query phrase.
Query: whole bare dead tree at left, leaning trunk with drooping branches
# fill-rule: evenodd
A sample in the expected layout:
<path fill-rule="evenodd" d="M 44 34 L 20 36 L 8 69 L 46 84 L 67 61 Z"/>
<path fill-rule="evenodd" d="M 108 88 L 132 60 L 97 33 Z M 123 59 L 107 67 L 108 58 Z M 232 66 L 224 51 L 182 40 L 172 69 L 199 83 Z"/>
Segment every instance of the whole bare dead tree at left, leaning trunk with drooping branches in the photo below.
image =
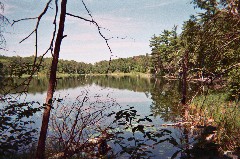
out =
<path fill-rule="evenodd" d="M 57 72 L 58 58 L 59 58 L 62 39 L 64 37 L 66 37 L 66 35 L 64 35 L 64 25 L 65 25 L 66 15 L 72 16 L 72 17 L 78 18 L 80 20 L 83 20 L 83 21 L 90 22 L 90 23 L 94 24 L 96 26 L 96 28 L 98 29 L 99 35 L 104 39 L 104 41 L 105 41 L 105 43 L 106 43 L 106 45 L 107 45 L 107 47 L 108 47 L 108 49 L 111 53 L 110 60 L 109 60 L 109 66 L 110 66 L 110 62 L 111 62 L 111 58 L 112 58 L 112 50 L 110 48 L 110 45 L 109 45 L 108 41 L 110 39 L 112 39 L 113 37 L 106 38 L 102 34 L 101 30 L 105 29 L 105 28 L 102 28 L 94 20 L 90 11 L 86 7 L 84 1 L 82 0 L 82 4 L 84 5 L 85 10 L 87 11 L 90 19 L 86 19 L 86 18 L 83 18 L 81 16 L 73 15 L 71 13 L 67 13 L 67 11 L 66 11 L 67 0 L 61 0 L 60 17 L 59 17 L 60 20 L 59 20 L 59 24 L 57 25 L 56 21 L 57 21 L 57 16 L 58 16 L 58 3 L 59 3 L 59 1 L 55 0 L 56 12 L 55 12 L 54 21 L 53 21 L 54 30 L 53 30 L 53 33 L 52 33 L 52 40 L 50 41 L 49 48 L 46 50 L 46 52 L 42 56 L 40 56 L 40 61 L 37 63 L 37 57 L 39 56 L 38 55 L 39 24 L 40 24 L 43 16 L 47 13 L 48 9 L 50 8 L 50 5 L 52 4 L 52 2 L 53 2 L 53 0 L 48 0 L 47 1 L 46 5 L 45 5 L 45 8 L 39 14 L 39 16 L 14 20 L 13 23 L 12 23 L 12 25 L 14 25 L 15 23 L 19 23 L 19 22 L 22 22 L 22 21 L 28 21 L 28 20 L 36 20 L 37 21 L 36 26 L 33 29 L 33 31 L 20 41 L 20 43 L 23 43 L 24 41 L 29 39 L 31 36 L 35 35 L 35 58 L 34 58 L 34 61 L 33 61 L 33 65 L 35 67 L 33 67 L 30 77 L 28 79 L 26 79 L 26 81 L 24 81 L 24 83 L 23 83 L 23 85 L 26 86 L 24 91 L 27 92 L 27 88 L 29 86 L 29 83 L 30 83 L 34 73 L 36 73 L 39 70 L 39 66 L 41 65 L 43 57 L 49 52 L 51 52 L 52 57 L 53 57 L 52 65 L 51 65 L 51 71 L 50 71 L 50 77 L 49 77 L 49 85 L 48 85 L 48 90 L 47 90 L 45 109 L 44 109 L 44 112 L 43 112 L 42 127 L 41 127 L 40 137 L 39 137 L 39 140 L 38 140 L 37 152 L 36 152 L 36 156 L 35 156 L 35 158 L 37 158 L 37 159 L 43 159 L 44 155 L 45 155 L 45 145 L 46 145 L 48 123 L 49 123 L 49 118 L 50 118 L 50 112 L 51 112 L 51 109 L 53 108 L 53 95 L 54 95 L 54 92 L 55 92 L 55 87 L 56 87 L 56 82 L 57 82 L 56 72 Z M 57 30 L 57 28 L 58 28 L 58 30 Z M 117 37 L 117 38 L 119 38 L 119 37 Z M 124 38 L 121 38 L 121 39 L 124 39 Z M 15 89 L 15 88 L 13 88 L 13 89 Z"/>

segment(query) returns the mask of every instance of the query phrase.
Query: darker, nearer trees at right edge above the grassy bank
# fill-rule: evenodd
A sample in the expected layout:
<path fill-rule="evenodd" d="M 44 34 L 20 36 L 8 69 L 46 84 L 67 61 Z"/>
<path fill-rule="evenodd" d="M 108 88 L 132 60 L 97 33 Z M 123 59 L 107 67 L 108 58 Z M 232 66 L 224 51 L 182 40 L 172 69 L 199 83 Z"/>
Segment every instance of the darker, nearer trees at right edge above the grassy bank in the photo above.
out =
<path fill-rule="evenodd" d="M 239 1 L 194 0 L 204 10 L 185 23 L 183 40 L 193 48 L 191 73 L 228 82 L 228 100 L 239 101 L 240 3 Z M 188 39 L 188 37 L 192 37 Z"/>

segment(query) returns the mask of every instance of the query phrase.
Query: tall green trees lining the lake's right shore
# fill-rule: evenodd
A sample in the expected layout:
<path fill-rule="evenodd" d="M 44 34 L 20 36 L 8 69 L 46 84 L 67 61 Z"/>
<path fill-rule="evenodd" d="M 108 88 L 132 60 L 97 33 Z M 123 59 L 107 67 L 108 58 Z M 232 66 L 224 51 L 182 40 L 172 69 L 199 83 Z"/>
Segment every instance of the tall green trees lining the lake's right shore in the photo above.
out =
<path fill-rule="evenodd" d="M 174 28 L 150 40 L 154 72 L 177 75 L 181 56 L 187 50 L 191 76 L 227 76 L 223 70 L 240 61 L 239 1 L 194 0 L 193 3 L 203 12 L 191 16 L 179 36 Z"/>

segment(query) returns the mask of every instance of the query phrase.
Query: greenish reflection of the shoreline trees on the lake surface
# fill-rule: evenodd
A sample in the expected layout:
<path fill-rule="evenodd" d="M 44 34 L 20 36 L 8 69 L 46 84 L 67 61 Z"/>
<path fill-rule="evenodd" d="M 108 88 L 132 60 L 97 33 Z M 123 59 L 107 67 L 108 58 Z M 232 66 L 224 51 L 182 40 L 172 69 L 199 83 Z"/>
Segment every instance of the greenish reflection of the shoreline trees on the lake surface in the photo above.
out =
<path fill-rule="evenodd" d="M 22 81 L 23 79 L 8 80 L 7 86 L 14 86 Z M 29 85 L 28 92 L 33 95 L 37 93 L 43 94 L 47 90 L 47 84 L 47 78 L 33 78 Z M 122 93 L 122 95 L 117 96 L 117 98 L 120 97 L 120 99 L 122 96 L 129 93 L 128 91 L 144 93 L 147 99 L 150 98 L 152 100 L 152 104 L 150 106 L 151 113 L 153 113 L 154 116 L 160 116 L 166 122 L 176 122 L 176 119 L 181 115 L 180 107 L 178 107 L 181 98 L 181 85 L 179 84 L 179 81 L 175 80 L 169 81 L 158 78 L 140 78 L 130 76 L 79 76 L 58 79 L 57 91 L 63 92 L 68 89 L 86 87 L 93 84 L 102 88 L 115 88 L 123 91 L 126 90 Z M 17 91 L 19 92 L 23 89 L 23 87 L 24 86 L 19 87 Z M 191 87 L 194 86 L 192 85 Z M 5 89 L 7 90 L 9 88 Z M 127 102 L 136 95 L 132 93 L 126 96 L 129 99 L 126 97 L 124 99 L 122 98 L 122 100 Z"/>

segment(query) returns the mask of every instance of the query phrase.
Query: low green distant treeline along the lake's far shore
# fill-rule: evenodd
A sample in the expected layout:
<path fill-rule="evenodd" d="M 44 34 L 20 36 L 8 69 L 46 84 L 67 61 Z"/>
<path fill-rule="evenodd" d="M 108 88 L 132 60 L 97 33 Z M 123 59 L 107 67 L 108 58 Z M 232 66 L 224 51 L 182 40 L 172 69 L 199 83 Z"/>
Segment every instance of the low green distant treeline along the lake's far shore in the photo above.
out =
<path fill-rule="evenodd" d="M 0 75 L 18 76 L 30 75 L 32 72 L 39 75 L 50 73 L 51 58 L 34 56 L 7 57 L 0 55 Z M 111 61 L 100 61 L 94 64 L 76 62 L 74 60 L 59 60 L 58 73 L 60 74 L 106 74 L 106 73 L 149 73 L 151 70 L 150 56 L 140 55 L 129 58 L 113 59 Z M 35 61 L 35 64 L 34 64 Z"/>

